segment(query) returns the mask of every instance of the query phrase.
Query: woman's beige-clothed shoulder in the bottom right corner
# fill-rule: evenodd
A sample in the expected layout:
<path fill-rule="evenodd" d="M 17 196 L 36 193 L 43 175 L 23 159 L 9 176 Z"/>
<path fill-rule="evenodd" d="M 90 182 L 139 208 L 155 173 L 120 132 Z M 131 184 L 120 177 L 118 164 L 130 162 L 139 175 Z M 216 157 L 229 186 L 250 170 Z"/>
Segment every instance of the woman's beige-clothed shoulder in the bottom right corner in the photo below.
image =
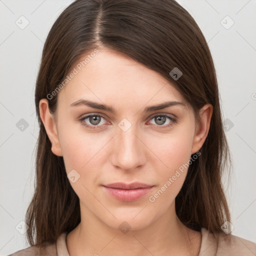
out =
<path fill-rule="evenodd" d="M 256 243 L 238 237 L 236 235 L 219 235 L 217 243 L 213 234 L 207 229 L 202 228 L 201 250 L 199 255 L 216 255 L 216 256 L 255 256 Z"/>

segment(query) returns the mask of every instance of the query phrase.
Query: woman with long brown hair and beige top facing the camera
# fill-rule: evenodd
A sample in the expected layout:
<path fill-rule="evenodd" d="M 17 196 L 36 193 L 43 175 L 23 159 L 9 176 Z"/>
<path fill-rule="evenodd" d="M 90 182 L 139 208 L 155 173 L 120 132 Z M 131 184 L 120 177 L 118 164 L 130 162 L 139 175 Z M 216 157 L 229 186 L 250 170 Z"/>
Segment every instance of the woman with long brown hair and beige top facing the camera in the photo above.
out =
<path fill-rule="evenodd" d="M 76 0 L 35 88 L 30 247 L 11 255 L 255 255 L 231 235 L 205 38 L 174 0 Z"/>

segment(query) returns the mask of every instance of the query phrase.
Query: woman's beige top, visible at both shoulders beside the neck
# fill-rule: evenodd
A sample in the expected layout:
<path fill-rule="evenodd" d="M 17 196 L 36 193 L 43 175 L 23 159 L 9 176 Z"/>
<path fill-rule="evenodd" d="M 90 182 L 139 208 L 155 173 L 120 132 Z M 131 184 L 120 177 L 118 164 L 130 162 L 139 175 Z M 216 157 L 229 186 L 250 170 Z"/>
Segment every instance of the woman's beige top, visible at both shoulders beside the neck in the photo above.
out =
<path fill-rule="evenodd" d="M 8 256 L 69 256 L 66 248 L 66 235 L 67 232 L 61 233 L 56 243 L 47 243 L 41 251 L 39 251 L 39 248 L 36 246 L 30 246 L 9 254 Z M 227 239 L 220 239 L 218 247 L 216 239 L 207 229 L 201 228 L 201 237 L 199 256 L 256 255 L 256 243 L 232 234 L 228 234 L 226 236 Z"/>

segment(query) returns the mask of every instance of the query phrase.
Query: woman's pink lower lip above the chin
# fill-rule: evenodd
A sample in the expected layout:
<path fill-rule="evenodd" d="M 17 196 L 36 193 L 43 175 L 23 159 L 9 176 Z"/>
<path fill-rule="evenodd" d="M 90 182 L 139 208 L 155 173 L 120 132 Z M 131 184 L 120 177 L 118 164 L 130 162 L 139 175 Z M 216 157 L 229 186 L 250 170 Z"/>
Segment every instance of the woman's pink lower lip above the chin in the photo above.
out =
<path fill-rule="evenodd" d="M 119 189 L 107 186 L 103 187 L 115 199 L 127 202 L 138 200 L 152 189 L 152 186 L 136 189 Z"/>

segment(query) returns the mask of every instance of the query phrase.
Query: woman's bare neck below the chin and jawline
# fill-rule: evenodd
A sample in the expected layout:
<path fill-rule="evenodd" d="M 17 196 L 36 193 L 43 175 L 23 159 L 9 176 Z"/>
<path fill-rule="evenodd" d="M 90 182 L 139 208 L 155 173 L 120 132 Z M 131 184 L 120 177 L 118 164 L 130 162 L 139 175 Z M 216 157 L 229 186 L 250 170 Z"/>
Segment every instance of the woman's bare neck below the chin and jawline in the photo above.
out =
<path fill-rule="evenodd" d="M 81 205 L 82 206 L 82 205 Z M 174 203 L 160 218 L 144 228 L 120 231 L 81 208 L 81 222 L 67 234 L 70 256 L 80 255 L 198 255 L 200 232 L 183 225 Z"/>

